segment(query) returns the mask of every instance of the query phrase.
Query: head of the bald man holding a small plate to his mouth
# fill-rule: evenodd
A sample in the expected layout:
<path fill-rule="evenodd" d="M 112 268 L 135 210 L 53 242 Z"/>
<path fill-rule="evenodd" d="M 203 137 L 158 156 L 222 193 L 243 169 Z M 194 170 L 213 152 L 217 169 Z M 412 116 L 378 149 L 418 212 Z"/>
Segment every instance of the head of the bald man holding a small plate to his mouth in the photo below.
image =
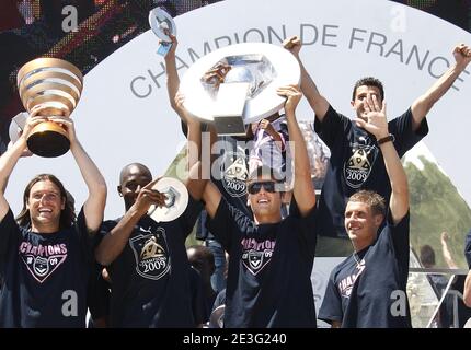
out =
<path fill-rule="evenodd" d="M 151 180 L 151 174 L 139 166 L 133 165 L 124 171 L 118 192 L 124 198 L 126 210 L 135 203 L 141 188 Z"/>

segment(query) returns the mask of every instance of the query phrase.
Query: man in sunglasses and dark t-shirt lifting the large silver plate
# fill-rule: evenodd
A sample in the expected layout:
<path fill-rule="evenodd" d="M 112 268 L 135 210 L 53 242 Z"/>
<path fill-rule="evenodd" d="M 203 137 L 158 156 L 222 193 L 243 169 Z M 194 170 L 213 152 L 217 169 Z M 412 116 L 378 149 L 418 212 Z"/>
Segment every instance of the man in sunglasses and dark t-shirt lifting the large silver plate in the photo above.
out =
<path fill-rule="evenodd" d="M 286 96 L 289 145 L 294 154 L 291 214 L 282 220 L 284 184 L 276 170 L 254 170 L 248 179 L 253 219 L 230 206 L 208 183 L 203 195 L 209 230 L 229 253 L 225 327 L 315 327 L 311 269 L 315 250 L 315 194 L 308 151 L 295 109 L 298 86 Z M 296 150 L 296 152 L 295 152 Z"/>

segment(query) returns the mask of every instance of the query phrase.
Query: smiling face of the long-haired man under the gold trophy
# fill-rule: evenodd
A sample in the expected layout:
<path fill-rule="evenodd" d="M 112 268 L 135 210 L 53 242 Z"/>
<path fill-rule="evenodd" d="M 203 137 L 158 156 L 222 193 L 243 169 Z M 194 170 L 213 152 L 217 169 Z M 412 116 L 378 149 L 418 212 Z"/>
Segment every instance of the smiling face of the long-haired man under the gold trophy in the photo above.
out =
<path fill-rule="evenodd" d="M 50 180 L 37 182 L 33 185 L 26 207 L 34 230 L 58 231 L 60 212 L 66 201 L 60 196 L 60 189 Z"/>

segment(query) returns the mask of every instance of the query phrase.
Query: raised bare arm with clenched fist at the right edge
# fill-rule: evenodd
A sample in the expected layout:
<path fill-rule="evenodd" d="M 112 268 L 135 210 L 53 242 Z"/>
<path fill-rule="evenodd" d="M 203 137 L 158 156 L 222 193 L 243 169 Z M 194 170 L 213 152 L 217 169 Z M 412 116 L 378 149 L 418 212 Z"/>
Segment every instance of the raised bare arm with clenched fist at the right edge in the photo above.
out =
<path fill-rule="evenodd" d="M 422 120 L 432 109 L 434 104 L 452 86 L 455 80 L 461 74 L 471 61 L 471 48 L 464 44 L 457 45 L 453 49 L 455 65 L 452 65 L 425 94 L 412 104 L 412 129 L 415 131 Z"/>

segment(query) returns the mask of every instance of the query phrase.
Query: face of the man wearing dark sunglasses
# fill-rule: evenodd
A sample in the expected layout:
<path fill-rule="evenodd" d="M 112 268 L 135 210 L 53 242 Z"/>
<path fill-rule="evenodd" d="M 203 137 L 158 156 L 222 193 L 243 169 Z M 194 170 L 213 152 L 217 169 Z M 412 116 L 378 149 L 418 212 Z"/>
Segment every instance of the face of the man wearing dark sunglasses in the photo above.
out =
<path fill-rule="evenodd" d="M 248 199 L 255 218 L 275 219 L 282 214 L 279 184 L 271 177 L 259 177 L 248 184 Z M 265 221 L 264 219 L 262 219 Z"/>

